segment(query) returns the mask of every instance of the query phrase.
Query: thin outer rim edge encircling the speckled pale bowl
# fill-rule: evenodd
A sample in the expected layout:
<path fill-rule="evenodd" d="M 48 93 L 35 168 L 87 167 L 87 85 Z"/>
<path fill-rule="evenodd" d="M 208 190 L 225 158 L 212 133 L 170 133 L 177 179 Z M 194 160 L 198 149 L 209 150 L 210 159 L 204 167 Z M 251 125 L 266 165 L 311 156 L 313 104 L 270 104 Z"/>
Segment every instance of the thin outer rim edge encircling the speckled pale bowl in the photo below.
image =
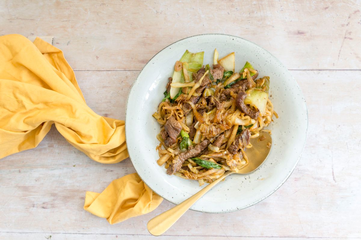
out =
<path fill-rule="evenodd" d="M 292 76 L 291 72 L 288 71 L 288 69 L 282 64 L 282 62 L 280 62 L 280 60 L 278 60 L 278 58 L 276 58 L 273 54 L 271 54 L 269 51 L 267 51 L 267 50 L 264 49 L 263 47 L 255 44 L 255 43 L 252 42 L 252 41 L 249 41 L 249 40 L 244 39 L 244 38 L 242 38 L 242 37 L 238 37 L 238 36 L 234 36 L 234 35 L 229 35 L 229 34 L 222 34 L 222 33 L 205 33 L 205 34 L 199 34 L 199 35 L 194 35 L 194 36 L 185 37 L 185 38 L 183 38 L 183 39 L 180 39 L 180 40 L 178 40 L 178 41 L 173 42 L 172 44 L 170 44 L 170 45 L 164 47 L 162 50 L 158 51 L 157 54 L 155 54 L 151 59 L 149 59 L 148 62 L 147 62 L 147 63 L 144 65 L 144 67 L 142 68 L 142 70 L 139 72 L 136 80 L 132 83 L 132 85 L 131 85 L 131 87 L 130 87 L 129 94 L 128 94 L 128 96 L 127 96 L 127 101 L 126 101 L 125 134 L 126 134 L 126 136 L 127 136 L 127 132 L 129 132 L 129 131 L 127 131 L 127 127 L 126 127 L 126 126 L 127 126 L 127 112 L 128 112 L 128 109 L 129 109 L 129 108 L 128 108 L 128 103 L 129 103 L 130 92 L 132 91 L 132 88 L 133 88 L 134 84 L 139 81 L 139 76 L 140 76 L 140 74 L 142 73 L 142 71 L 144 70 L 144 68 L 148 65 L 148 63 L 149 63 L 153 58 L 155 58 L 155 57 L 156 57 L 161 51 L 163 51 L 164 49 L 166 49 L 166 48 L 168 48 L 168 47 L 176 44 L 176 43 L 179 42 L 179 41 L 182 41 L 182 40 L 185 40 L 185 39 L 189 39 L 189 38 L 192 38 L 192 37 L 204 36 L 204 35 L 208 35 L 208 36 L 210 36 L 210 35 L 223 35 L 223 36 L 235 37 L 235 38 L 238 38 L 238 39 L 242 39 L 242 40 L 244 40 L 244 41 L 247 41 L 247 42 L 249 42 L 249 43 L 251 43 L 251 44 L 254 44 L 254 45 L 260 47 L 262 50 L 266 51 L 266 52 L 273 58 L 273 60 L 275 60 L 275 61 L 276 61 L 277 63 L 279 63 L 280 65 L 282 65 L 282 67 L 284 67 L 284 69 L 290 74 L 290 76 L 292 77 L 292 80 L 296 83 L 297 88 L 300 90 L 300 96 L 301 96 L 301 99 L 303 99 L 304 104 L 305 104 L 305 108 L 306 108 L 306 118 L 307 118 L 306 137 L 305 137 L 305 140 L 304 140 L 304 144 L 303 144 L 302 150 L 301 150 L 301 152 L 300 152 L 299 157 L 297 158 L 297 160 L 296 160 L 296 162 L 295 162 L 295 165 L 292 167 L 291 171 L 290 171 L 290 172 L 288 173 L 288 175 L 284 178 L 284 180 L 283 180 L 277 187 L 275 187 L 274 190 L 272 190 L 268 195 L 264 196 L 263 198 L 260 198 L 260 199 L 258 199 L 257 201 L 255 201 L 255 202 L 253 202 L 253 203 L 251 203 L 251 204 L 245 205 L 245 206 L 242 207 L 242 208 L 235 208 L 235 209 L 230 209 L 230 210 L 226 210 L 226 211 L 222 211 L 222 212 L 207 212 L 207 211 L 204 211 L 204 210 L 201 211 L 201 210 L 191 209 L 191 210 L 196 211 L 196 212 L 204 212 L 204 213 L 230 213 L 230 212 L 236 212 L 236 211 L 238 211 L 238 210 L 242 210 L 242 209 L 251 207 L 251 206 L 259 203 L 260 201 L 268 198 L 268 197 L 269 197 L 270 195 L 272 195 L 277 189 L 279 189 L 280 186 L 282 186 L 282 185 L 287 181 L 287 179 L 291 176 L 291 174 L 292 174 L 293 171 L 295 170 L 298 162 L 300 161 L 300 158 L 301 158 L 301 156 L 302 156 L 303 150 L 304 150 L 305 145 L 306 145 L 307 136 L 308 136 L 308 125 L 309 125 L 308 108 L 307 108 L 306 100 L 305 100 L 305 98 L 304 98 L 304 96 L 303 96 L 303 93 L 302 93 L 302 90 L 301 90 L 300 86 L 298 85 L 298 83 L 297 83 L 297 81 L 295 80 L 295 78 Z M 134 165 L 134 163 L 133 163 L 133 160 L 132 160 L 132 157 L 130 156 L 130 154 L 129 154 L 129 158 L 130 158 L 130 160 L 131 160 L 131 162 L 132 162 L 132 165 L 133 165 L 135 171 L 138 172 L 137 169 L 136 169 L 136 167 L 135 167 L 135 165 Z M 147 184 L 147 182 L 144 181 L 144 179 L 143 179 L 140 175 L 138 175 L 138 176 L 140 177 L 140 179 L 142 179 L 142 181 L 143 181 L 145 184 Z M 149 185 L 147 184 L 147 186 L 149 186 Z M 152 190 L 153 190 L 153 189 L 152 189 Z M 153 190 L 153 191 L 154 191 L 154 190 Z M 156 191 L 154 191 L 154 192 L 155 192 L 156 194 L 162 196 L 161 194 L 157 193 Z M 162 196 L 162 198 L 166 199 L 167 201 L 169 201 L 169 202 L 171 202 L 171 203 L 173 203 L 173 204 L 177 204 L 177 203 L 175 203 L 174 201 L 172 201 L 170 198 L 166 198 L 165 196 Z"/>

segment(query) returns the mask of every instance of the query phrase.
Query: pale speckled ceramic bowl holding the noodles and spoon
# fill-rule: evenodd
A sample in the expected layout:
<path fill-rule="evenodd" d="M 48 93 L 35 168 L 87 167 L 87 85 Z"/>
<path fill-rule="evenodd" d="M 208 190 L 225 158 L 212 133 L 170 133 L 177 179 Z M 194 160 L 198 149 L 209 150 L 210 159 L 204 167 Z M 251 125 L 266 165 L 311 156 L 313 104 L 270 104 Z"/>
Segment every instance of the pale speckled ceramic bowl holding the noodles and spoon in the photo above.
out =
<path fill-rule="evenodd" d="M 236 71 L 248 61 L 260 77 L 270 76 L 270 96 L 279 115 L 268 127 L 272 130 L 273 144 L 264 164 L 248 175 L 227 177 L 191 207 L 201 212 L 225 213 L 249 207 L 271 195 L 291 175 L 304 148 L 308 127 L 306 103 L 297 82 L 279 60 L 240 37 L 206 34 L 179 40 L 157 53 L 139 73 L 128 96 L 125 126 L 130 159 L 153 191 L 179 204 L 204 187 L 197 181 L 169 176 L 164 166 L 158 166 L 156 135 L 160 125 L 152 114 L 164 98 L 175 61 L 184 51 L 204 51 L 203 63 L 211 64 L 214 48 L 220 58 L 235 52 Z"/>

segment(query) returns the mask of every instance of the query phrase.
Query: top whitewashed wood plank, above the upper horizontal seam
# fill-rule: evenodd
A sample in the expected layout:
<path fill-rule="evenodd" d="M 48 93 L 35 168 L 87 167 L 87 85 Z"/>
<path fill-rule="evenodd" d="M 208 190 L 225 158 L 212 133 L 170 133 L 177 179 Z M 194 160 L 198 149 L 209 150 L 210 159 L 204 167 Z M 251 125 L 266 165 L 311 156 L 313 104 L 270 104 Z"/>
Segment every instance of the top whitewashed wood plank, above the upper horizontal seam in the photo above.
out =
<path fill-rule="evenodd" d="M 5 0 L 0 35 L 55 36 L 77 70 L 140 70 L 169 44 L 203 33 L 253 41 L 289 69 L 360 69 L 360 9 L 347 0 Z"/>

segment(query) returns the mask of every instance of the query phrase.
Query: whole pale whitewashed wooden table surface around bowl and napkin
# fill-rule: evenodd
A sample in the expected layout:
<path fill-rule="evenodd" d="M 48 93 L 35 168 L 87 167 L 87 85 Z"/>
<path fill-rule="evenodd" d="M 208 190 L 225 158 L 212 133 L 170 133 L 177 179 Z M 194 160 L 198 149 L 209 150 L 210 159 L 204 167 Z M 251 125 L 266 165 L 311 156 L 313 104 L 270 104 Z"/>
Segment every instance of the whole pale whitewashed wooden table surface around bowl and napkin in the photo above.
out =
<path fill-rule="evenodd" d="M 201 33 L 240 36 L 290 69 L 305 96 L 308 139 L 274 194 L 227 214 L 188 211 L 158 239 L 361 239 L 361 2 L 0 1 L 0 35 L 55 36 L 87 104 L 125 118 L 132 82 L 165 46 Z M 0 239 L 155 239 L 146 224 L 173 204 L 110 225 L 85 192 L 135 172 L 105 165 L 53 127 L 39 146 L 0 160 Z"/>

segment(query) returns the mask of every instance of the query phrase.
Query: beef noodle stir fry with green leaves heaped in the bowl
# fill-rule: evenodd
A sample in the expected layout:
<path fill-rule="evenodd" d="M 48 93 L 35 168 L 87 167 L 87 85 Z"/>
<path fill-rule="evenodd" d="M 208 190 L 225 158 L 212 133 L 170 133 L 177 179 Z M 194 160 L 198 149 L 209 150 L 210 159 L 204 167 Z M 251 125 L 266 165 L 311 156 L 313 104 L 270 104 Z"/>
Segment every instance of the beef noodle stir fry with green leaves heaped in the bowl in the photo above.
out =
<path fill-rule="evenodd" d="M 252 161 L 247 149 L 278 118 L 269 99 L 268 76 L 246 62 L 235 71 L 235 54 L 203 65 L 204 52 L 188 50 L 175 63 L 164 99 L 153 117 L 161 125 L 159 159 L 169 175 L 212 182 Z"/>

